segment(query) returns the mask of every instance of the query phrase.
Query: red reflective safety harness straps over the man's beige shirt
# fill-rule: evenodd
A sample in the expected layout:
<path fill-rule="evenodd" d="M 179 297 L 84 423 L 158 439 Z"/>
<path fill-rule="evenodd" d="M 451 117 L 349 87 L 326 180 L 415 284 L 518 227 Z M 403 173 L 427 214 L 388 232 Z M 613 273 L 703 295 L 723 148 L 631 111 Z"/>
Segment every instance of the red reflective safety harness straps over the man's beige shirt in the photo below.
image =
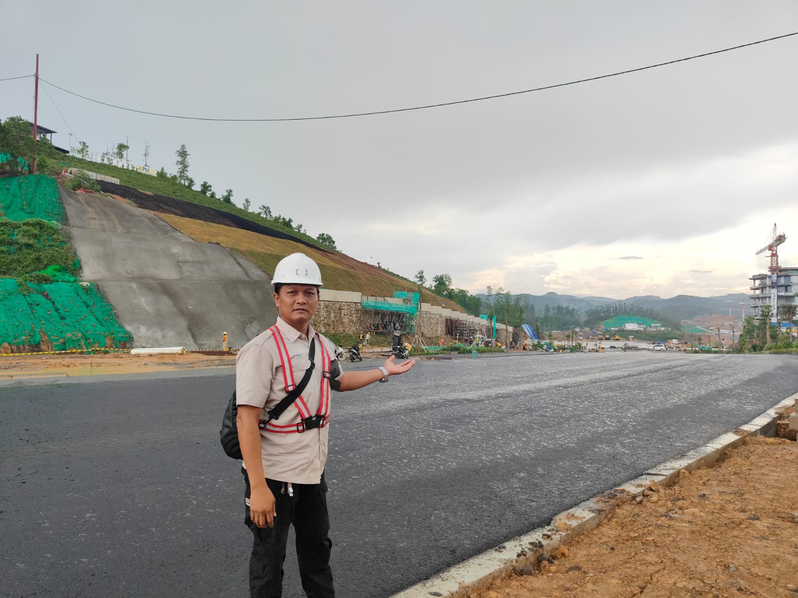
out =
<path fill-rule="evenodd" d="M 282 380 L 286 385 L 286 392 L 290 392 L 296 388 L 297 384 L 296 380 L 294 380 L 294 370 L 291 368 L 288 346 L 286 345 L 286 340 L 282 337 L 282 332 L 280 332 L 280 329 L 276 325 L 272 326 L 270 330 L 272 334 L 271 337 L 275 340 L 275 345 L 277 346 L 277 354 L 280 357 Z M 330 422 L 330 353 L 327 352 L 324 343 L 322 343 L 322 339 L 318 336 L 318 332 L 314 338 L 318 340 L 318 344 L 322 347 L 322 388 L 318 400 L 318 411 L 315 415 L 310 415 L 310 409 L 307 407 L 305 399 L 302 399 L 302 395 L 299 395 L 294 401 L 294 406 L 297 408 L 297 411 L 299 411 L 299 418 L 301 421 L 282 425 L 274 423 L 271 420 L 261 419 L 258 422 L 261 430 L 276 432 L 277 434 L 294 434 L 312 430 L 317 427 L 325 427 L 327 423 Z M 313 342 L 313 340 L 311 340 L 311 342 Z M 312 368 L 313 364 L 310 364 L 310 367 Z"/>

